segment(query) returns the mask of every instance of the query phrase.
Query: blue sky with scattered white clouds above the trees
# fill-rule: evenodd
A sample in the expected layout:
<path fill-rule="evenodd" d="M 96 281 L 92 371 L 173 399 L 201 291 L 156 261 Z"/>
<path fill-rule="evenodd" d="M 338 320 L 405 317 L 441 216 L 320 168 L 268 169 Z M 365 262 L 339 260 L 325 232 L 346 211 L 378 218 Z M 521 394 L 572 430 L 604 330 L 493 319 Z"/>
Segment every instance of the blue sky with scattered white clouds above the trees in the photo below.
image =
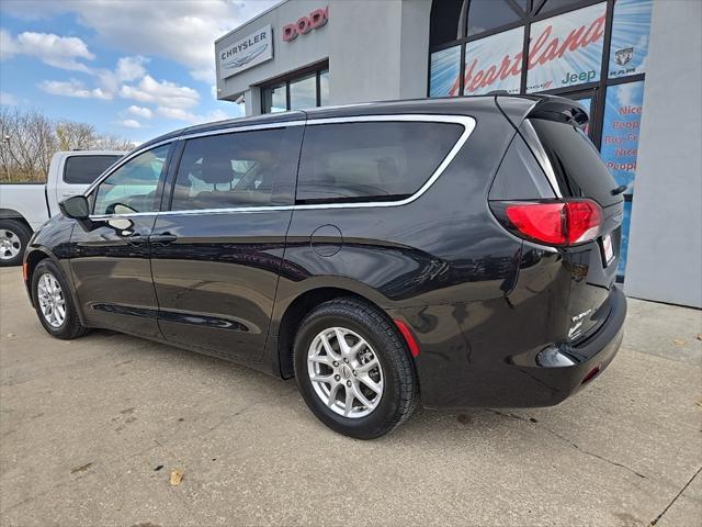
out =
<path fill-rule="evenodd" d="M 276 0 L 2 0 L 0 103 L 137 143 L 239 115 L 214 41 Z"/>

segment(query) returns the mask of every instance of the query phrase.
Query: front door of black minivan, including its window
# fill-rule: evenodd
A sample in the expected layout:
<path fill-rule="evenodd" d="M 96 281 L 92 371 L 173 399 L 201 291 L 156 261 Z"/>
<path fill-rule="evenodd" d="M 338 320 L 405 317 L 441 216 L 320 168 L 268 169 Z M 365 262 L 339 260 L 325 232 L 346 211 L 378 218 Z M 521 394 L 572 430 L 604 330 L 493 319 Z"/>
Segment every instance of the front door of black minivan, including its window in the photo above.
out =
<path fill-rule="evenodd" d="M 149 237 L 170 145 L 133 157 L 90 194 L 92 228 L 76 226 L 70 266 L 86 322 L 160 338 Z"/>

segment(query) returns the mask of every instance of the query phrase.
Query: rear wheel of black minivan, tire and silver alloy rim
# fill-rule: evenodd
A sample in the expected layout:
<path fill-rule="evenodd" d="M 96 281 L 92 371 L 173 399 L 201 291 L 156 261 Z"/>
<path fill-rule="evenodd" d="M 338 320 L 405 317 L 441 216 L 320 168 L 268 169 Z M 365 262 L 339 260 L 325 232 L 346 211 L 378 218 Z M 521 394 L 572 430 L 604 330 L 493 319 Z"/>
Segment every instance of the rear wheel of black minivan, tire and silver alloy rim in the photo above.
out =
<path fill-rule="evenodd" d="M 393 322 L 347 298 L 313 310 L 294 347 L 295 377 L 309 410 L 339 434 L 381 437 L 414 412 L 419 384 Z"/>

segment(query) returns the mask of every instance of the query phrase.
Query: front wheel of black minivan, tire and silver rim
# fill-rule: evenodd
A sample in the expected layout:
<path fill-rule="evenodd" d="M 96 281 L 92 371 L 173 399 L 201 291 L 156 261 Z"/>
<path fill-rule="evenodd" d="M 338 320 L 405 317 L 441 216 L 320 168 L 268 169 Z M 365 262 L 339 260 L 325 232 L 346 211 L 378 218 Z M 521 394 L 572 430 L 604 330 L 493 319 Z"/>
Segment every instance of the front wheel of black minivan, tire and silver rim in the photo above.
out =
<path fill-rule="evenodd" d="M 49 335 L 71 340 L 87 332 L 78 317 L 69 284 L 52 260 L 42 260 L 34 269 L 32 300 L 39 323 Z"/>

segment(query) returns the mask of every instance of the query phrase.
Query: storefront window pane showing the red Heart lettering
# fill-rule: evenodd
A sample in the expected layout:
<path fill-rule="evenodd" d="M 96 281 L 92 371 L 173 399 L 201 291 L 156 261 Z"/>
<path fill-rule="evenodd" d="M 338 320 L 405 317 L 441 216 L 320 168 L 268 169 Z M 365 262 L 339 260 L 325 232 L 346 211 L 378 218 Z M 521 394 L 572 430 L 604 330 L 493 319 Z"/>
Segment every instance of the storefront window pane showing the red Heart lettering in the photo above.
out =
<path fill-rule="evenodd" d="M 494 90 L 519 93 L 523 45 L 524 27 L 468 42 L 463 94 L 478 96 Z"/>

